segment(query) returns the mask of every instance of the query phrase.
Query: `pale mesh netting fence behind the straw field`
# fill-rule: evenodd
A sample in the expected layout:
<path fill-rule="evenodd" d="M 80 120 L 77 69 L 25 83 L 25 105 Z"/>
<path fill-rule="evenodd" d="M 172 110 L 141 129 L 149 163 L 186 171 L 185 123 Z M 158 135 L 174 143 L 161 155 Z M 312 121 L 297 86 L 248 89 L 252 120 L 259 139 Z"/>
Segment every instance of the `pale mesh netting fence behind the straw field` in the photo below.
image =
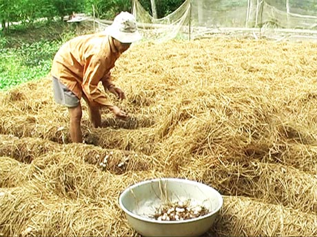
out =
<path fill-rule="evenodd" d="M 132 13 L 144 38 L 159 43 L 218 35 L 317 42 L 316 0 L 185 0 L 161 19 L 133 0 Z"/>

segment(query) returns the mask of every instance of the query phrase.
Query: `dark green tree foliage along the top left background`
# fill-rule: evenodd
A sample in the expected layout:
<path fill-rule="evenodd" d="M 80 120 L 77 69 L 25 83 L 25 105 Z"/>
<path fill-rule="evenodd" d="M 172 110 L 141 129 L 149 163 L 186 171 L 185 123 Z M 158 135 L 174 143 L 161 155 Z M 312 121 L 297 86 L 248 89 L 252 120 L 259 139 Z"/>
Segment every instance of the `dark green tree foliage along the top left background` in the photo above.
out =
<path fill-rule="evenodd" d="M 151 11 L 150 0 L 139 0 Z M 157 1 L 158 16 L 163 17 L 178 8 L 185 0 Z M 132 10 L 132 0 L 0 0 L 0 23 L 3 32 L 10 28 L 9 23 L 20 22 L 22 25 L 33 25 L 38 19 L 52 21 L 59 17 L 83 12 L 92 15 L 94 12 L 101 19 L 112 19 L 121 11 Z"/>

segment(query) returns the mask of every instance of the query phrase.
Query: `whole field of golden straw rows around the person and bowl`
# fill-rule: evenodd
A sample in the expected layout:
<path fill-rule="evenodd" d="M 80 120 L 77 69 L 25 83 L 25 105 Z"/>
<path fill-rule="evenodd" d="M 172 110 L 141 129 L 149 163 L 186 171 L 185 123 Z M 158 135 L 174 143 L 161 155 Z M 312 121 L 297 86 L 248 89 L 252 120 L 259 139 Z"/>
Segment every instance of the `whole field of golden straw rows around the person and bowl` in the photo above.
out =
<path fill-rule="evenodd" d="M 109 95 L 130 120 L 103 111 L 103 128 L 92 128 L 83 103 L 85 144 L 70 144 L 50 78 L 1 93 L 0 235 L 137 235 L 119 194 L 156 177 L 226 195 L 209 235 L 316 235 L 316 50 L 216 38 L 134 45 L 112 71 L 127 100 Z"/>

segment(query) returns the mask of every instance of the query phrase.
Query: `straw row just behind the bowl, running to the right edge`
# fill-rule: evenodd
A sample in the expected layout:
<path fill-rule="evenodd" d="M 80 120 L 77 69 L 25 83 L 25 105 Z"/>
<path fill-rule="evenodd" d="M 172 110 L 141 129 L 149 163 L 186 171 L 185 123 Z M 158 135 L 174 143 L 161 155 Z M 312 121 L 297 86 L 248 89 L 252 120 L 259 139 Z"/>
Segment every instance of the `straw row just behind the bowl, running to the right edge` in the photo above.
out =
<path fill-rule="evenodd" d="M 181 174 L 188 179 L 203 181 L 225 195 L 248 196 L 265 203 L 317 214 L 314 201 L 317 192 L 316 174 L 256 159 L 243 163 L 209 162 L 206 157 L 196 157 L 188 168 L 183 168 Z"/>

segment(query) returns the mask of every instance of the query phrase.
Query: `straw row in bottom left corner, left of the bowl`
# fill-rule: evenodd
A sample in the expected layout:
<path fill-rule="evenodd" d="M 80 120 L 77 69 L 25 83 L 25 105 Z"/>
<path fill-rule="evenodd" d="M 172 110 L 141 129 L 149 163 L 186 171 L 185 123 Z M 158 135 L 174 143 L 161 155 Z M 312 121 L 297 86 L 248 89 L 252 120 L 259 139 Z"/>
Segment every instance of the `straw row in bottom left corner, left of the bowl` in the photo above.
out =
<path fill-rule="evenodd" d="M 153 172 L 144 174 L 156 177 Z M 39 175 L 19 188 L 0 189 L 0 223 L 4 235 L 113 236 L 116 233 L 116 236 L 132 236 L 132 229 L 122 221 L 124 216 L 114 199 L 118 199 L 120 190 L 127 185 L 143 180 L 137 172 L 130 172 L 126 177 L 92 172 L 90 179 L 85 180 L 85 198 L 81 198 L 78 190 L 79 198 L 76 199 L 64 195 L 68 190 L 56 185 L 54 179 L 62 177 L 55 175 L 47 180 Z"/>

